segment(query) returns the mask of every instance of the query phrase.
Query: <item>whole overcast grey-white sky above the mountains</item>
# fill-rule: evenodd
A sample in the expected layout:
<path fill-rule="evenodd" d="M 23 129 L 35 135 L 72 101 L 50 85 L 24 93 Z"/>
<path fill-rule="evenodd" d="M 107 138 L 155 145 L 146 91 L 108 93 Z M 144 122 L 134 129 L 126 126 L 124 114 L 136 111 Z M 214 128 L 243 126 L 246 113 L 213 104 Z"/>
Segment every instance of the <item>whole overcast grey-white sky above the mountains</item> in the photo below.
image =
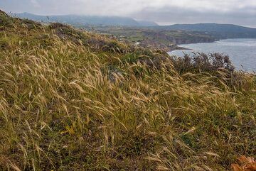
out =
<path fill-rule="evenodd" d="M 41 15 L 129 16 L 173 23 L 233 23 L 256 27 L 256 0 L 0 0 L 0 9 Z"/>

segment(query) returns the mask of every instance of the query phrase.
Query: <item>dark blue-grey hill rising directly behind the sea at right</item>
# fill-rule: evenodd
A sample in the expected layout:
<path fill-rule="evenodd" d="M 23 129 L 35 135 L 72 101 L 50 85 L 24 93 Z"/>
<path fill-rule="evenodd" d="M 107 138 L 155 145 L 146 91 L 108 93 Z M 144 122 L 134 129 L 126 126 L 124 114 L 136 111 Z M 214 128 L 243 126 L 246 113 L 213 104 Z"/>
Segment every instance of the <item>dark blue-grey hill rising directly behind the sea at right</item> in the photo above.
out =
<path fill-rule="evenodd" d="M 232 24 L 197 23 L 175 24 L 171 26 L 156 26 L 163 30 L 201 31 L 213 35 L 215 38 L 256 38 L 256 28 L 247 28 Z"/>

